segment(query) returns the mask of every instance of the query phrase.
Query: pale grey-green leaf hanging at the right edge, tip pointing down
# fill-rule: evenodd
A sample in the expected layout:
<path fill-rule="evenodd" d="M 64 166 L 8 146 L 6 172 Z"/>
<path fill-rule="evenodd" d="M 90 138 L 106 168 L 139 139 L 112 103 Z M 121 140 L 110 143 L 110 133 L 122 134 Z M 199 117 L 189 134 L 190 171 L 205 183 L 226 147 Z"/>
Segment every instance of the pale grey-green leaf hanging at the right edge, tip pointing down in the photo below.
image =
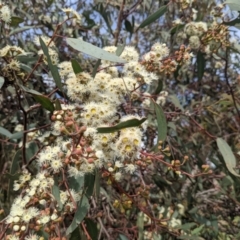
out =
<path fill-rule="evenodd" d="M 217 138 L 217 146 L 223 156 L 228 171 L 232 173 L 234 176 L 240 177 L 240 175 L 237 174 L 234 170 L 234 168 L 237 165 L 237 161 L 230 146 L 222 138 Z"/>

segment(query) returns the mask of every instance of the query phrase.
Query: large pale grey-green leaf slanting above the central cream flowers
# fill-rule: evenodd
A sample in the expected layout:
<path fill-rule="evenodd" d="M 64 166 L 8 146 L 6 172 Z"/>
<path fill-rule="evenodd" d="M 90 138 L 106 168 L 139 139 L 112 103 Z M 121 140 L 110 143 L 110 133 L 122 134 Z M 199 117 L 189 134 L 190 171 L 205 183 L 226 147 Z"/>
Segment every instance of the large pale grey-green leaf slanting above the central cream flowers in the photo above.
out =
<path fill-rule="evenodd" d="M 119 58 L 115 54 L 111 54 L 99 47 L 96 47 L 92 45 L 91 43 L 87 43 L 81 39 L 75 39 L 75 38 L 67 38 L 67 44 L 69 44 L 72 48 L 83 52 L 87 55 L 90 55 L 92 57 L 107 60 L 110 62 L 118 62 L 118 63 L 125 63 L 126 61 Z"/>

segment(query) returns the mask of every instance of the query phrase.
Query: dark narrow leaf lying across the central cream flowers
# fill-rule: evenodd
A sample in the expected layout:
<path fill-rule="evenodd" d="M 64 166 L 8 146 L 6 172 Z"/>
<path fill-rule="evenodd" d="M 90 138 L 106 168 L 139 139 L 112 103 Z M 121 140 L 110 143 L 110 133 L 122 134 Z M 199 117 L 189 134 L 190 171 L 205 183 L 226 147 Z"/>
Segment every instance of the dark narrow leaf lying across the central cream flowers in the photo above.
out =
<path fill-rule="evenodd" d="M 144 121 L 146 121 L 146 118 L 142 118 L 141 120 L 138 120 L 136 118 L 130 119 L 124 122 L 121 122 L 113 127 L 102 127 L 102 128 L 97 128 L 98 133 L 112 133 L 119 131 L 123 128 L 129 128 L 129 127 L 138 127 L 141 125 Z"/>

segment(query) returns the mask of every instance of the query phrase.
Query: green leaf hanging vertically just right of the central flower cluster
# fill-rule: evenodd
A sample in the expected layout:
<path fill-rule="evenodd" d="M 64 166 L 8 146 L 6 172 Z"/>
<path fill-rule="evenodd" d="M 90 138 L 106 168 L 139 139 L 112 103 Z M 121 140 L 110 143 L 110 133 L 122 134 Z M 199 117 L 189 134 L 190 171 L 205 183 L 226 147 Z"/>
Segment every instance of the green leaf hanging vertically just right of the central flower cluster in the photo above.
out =
<path fill-rule="evenodd" d="M 158 142 L 165 141 L 167 137 L 167 120 L 161 106 L 154 102 L 154 109 L 157 115 Z"/>

